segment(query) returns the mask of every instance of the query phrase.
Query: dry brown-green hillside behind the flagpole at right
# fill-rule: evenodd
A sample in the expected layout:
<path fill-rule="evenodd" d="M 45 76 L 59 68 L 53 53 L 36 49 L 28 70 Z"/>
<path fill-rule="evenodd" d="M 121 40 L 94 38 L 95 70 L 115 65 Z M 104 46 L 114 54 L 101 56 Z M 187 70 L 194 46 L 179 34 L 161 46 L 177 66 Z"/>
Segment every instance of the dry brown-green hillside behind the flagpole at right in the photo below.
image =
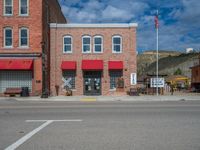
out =
<path fill-rule="evenodd" d="M 198 63 L 197 53 L 179 54 L 167 56 L 159 54 L 159 73 L 172 75 L 179 68 L 182 74 L 191 77 L 190 67 Z M 156 55 L 142 54 L 138 55 L 138 76 L 146 75 L 147 73 L 155 74 L 156 72 Z"/>

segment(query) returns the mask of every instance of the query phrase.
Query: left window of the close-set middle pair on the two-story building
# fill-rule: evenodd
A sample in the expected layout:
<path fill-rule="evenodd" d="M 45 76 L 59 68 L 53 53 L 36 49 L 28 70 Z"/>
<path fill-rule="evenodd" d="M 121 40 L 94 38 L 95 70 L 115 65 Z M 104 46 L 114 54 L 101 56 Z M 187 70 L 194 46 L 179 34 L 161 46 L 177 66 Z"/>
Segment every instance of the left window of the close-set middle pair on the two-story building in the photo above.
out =
<path fill-rule="evenodd" d="M 82 52 L 91 53 L 91 37 L 90 36 L 82 37 Z"/>

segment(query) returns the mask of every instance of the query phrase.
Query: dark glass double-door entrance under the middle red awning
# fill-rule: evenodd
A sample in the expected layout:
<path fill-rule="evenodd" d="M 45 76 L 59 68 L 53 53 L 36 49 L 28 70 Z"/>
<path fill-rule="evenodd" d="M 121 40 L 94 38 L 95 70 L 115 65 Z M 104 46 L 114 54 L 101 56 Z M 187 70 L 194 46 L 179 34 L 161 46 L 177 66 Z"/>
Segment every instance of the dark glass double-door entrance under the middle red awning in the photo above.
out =
<path fill-rule="evenodd" d="M 101 95 L 101 71 L 84 72 L 84 95 Z"/>

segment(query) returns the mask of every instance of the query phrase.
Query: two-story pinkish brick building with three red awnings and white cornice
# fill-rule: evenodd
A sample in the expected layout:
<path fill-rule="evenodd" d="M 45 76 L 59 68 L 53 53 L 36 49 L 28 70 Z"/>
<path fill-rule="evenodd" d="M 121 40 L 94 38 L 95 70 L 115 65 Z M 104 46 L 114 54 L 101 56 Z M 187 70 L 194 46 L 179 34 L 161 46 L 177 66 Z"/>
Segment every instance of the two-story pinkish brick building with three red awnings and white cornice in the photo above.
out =
<path fill-rule="evenodd" d="M 51 94 L 126 94 L 136 84 L 136 27 L 52 23 Z"/>

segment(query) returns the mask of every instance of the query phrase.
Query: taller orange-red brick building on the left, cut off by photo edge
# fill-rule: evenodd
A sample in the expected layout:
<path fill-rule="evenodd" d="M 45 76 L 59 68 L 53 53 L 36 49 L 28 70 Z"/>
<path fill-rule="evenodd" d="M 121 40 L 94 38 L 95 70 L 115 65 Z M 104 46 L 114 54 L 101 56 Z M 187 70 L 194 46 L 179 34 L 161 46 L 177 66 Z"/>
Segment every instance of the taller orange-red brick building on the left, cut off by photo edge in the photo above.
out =
<path fill-rule="evenodd" d="M 1 0 L 0 7 L 0 93 L 29 87 L 40 95 L 45 85 L 48 94 L 49 23 L 66 23 L 58 1 Z"/>

